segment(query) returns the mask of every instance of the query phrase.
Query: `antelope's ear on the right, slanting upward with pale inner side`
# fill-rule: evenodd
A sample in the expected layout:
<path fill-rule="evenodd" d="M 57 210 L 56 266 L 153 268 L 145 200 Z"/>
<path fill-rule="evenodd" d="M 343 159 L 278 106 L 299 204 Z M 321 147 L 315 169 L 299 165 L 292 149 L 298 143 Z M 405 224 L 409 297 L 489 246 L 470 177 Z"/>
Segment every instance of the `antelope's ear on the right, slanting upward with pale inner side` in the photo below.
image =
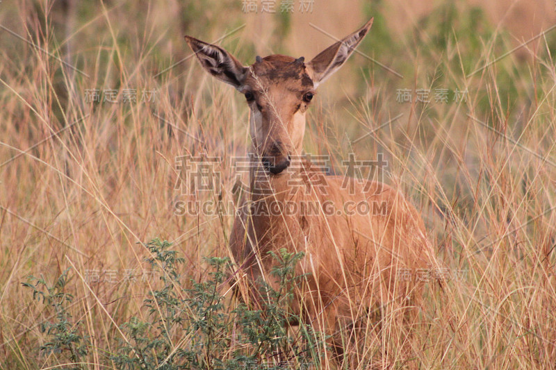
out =
<path fill-rule="evenodd" d="M 332 44 L 332 46 L 320 52 L 318 56 L 308 63 L 309 76 L 313 79 L 315 87 L 329 78 L 329 76 L 332 76 L 334 72 L 340 69 L 347 58 L 352 55 L 359 42 L 363 40 L 363 37 L 370 30 L 370 26 L 373 25 L 373 19 L 371 18 L 365 26 L 348 35 L 343 40 Z"/>

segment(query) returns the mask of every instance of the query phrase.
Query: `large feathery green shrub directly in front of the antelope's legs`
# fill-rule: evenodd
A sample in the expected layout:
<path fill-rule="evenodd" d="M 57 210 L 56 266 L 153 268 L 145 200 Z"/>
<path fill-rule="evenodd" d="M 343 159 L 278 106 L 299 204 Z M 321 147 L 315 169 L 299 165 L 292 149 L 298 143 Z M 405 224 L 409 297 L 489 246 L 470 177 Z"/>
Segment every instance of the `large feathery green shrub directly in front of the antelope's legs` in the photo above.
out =
<path fill-rule="evenodd" d="M 146 246 L 154 256 L 148 261 L 160 269 L 163 286 L 144 301 L 148 321 L 132 317 L 120 326 L 129 340 L 120 339 L 117 355 L 111 358 L 118 369 L 285 369 L 294 362 L 297 367 L 308 366 L 318 357 L 322 335 L 304 323 L 297 338 L 288 337 L 286 330 L 288 322 L 300 321 L 288 305 L 295 283 L 304 277 L 295 275 L 302 253 L 272 254 L 279 262 L 272 269 L 279 289 L 261 283 L 265 303 L 252 310 L 244 303 L 235 308 L 224 305 L 220 289 L 229 258 L 206 258 L 208 278 L 190 279 L 192 286 L 185 289 L 177 272 L 183 258 L 169 249 L 171 244 L 153 239 Z"/>

